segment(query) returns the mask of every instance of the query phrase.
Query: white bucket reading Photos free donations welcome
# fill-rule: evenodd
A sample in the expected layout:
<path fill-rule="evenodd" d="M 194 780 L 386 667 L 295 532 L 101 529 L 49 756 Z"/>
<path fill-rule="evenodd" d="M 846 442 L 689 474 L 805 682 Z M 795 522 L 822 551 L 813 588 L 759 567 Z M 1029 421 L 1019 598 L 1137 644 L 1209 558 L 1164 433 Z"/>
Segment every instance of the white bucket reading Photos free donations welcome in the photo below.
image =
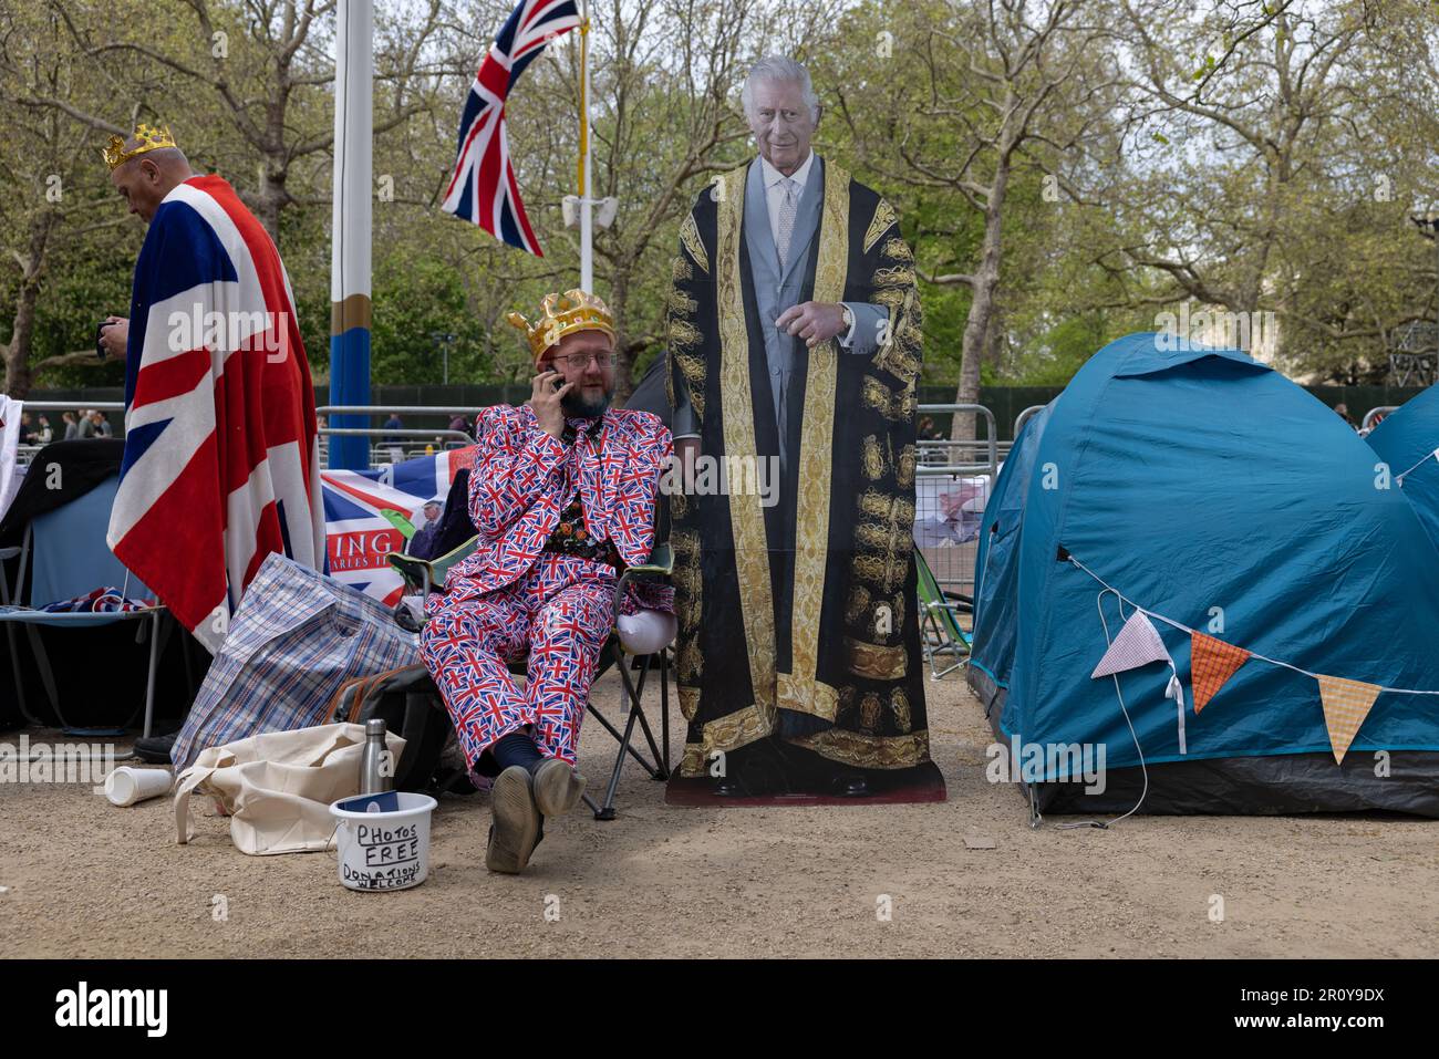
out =
<path fill-rule="evenodd" d="M 330 806 L 340 849 L 340 882 L 350 889 L 409 889 L 430 873 L 429 794 L 386 791 Z"/>

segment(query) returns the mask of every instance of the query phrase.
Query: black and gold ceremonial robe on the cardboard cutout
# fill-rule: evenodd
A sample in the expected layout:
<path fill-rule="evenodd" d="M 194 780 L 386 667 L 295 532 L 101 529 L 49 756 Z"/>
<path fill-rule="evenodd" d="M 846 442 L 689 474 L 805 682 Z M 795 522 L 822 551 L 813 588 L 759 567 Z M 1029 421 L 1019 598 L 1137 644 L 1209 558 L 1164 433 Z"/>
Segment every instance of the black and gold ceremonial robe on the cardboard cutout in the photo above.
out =
<path fill-rule="evenodd" d="M 751 164 L 758 164 L 751 163 Z M 735 489 L 778 450 L 745 236 L 748 165 L 701 193 L 669 292 L 669 397 L 728 491 L 671 494 L 684 776 L 780 737 L 859 768 L 930 758 L 914 563 L 921 364 L 914 255 L 891 206 L 826 163 L 800 301 L 888 309 L 873 355 L 806 350 L 786 399 L 778 502 Z"/>

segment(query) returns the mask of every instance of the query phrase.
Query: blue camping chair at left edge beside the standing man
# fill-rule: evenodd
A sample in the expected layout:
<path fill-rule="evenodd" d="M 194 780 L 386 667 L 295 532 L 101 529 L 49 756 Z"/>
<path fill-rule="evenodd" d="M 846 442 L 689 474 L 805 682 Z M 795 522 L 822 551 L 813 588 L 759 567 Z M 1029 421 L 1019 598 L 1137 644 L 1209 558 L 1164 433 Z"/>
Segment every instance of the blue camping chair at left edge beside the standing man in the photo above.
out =
<path fill-rule="evenodd" d="M 24 699 L 24 685 L 20 679 L 19 656 L 14 653 L 14 624 L 24 626 L 35 658 L 40 671 L 40 681 L 45 694 L 50 699 L 50 708 L 59 719 L 60 727 L 69 728 L 69 722 L 60 712 L 59 695 L 55 688 L 55 672 L 50 659 L 40 640 L 37 626 L 52 629 L 65 627 L 96 627 L 117 624 L 119 622 L 137 622 L 135 643 L 144 643 L 150 637 L 150 669 L 145 678 L 145 737 L 150 735 L 154 721 L 155 706 L 155 672 L 160 663 L 160 649 L 170 629 L 163 623 L 168 613 L 163 606 L 145 607 L 124 613 L 52 613 L 43 610 L 49 603 L 85 596 L 104 586 L 121 586 L 121 596 L 128 599 L 131 591 L 148 596 L 150 588 L 132 577 L 130 570 L 109 551 L 105 544 L 105 531 L 109 527 L 109 509 L 115 502 L 115 491 L 119 478 L 112 476 L 96 485 L 82 496 L 63 506 L 47 511 L 36 517 L 24 528 L 24 537 L 19 548 L 19 573 L 16 577 L 16 596 L 24 593 L 26 573 L 30 576 L 29 600 L 24 604 L 13 604 L 9 586 L 0 573 L 0 622 L 6 623 L 6 635 L 10 642 L 12 658 L 16 659 L 16 694 L 20 704 L 20 714 L 30 724 L 40 721 L 30 714 Z M 6 550 L 7 553 L 10 550 Z M 125 722 L 128 728 L 134 724 L 140 709 Z"/>

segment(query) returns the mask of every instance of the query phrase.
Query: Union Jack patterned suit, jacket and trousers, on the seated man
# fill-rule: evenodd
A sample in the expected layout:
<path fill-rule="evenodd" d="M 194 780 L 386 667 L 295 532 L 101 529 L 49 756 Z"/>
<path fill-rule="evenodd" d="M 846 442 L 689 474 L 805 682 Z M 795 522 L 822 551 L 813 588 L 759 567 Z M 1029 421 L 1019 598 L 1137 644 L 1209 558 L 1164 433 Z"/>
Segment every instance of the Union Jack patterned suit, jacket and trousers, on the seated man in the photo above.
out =
<path fill-rule="evenodd" d="M 612 409 L 567 420 L 574 440 L 540 427 L 528 407 L 499 404 L 479 420 L 469 514 L 479 547 L 430 596 L 420 653 L 473 767 L 496 740 L 532 725 L 545 757 L 574 764 L 580 721 L 600 649 L 614 624 L 609 563 L 545 551 L 561 514 L 578 499 L 593 541 L 612 541 L 626 565 L 649 560 L 655 495 L 673 450 L 648 412 Z M 673 590 L 630 586 L 623 613 L 673 613 Z M 507 662 L 528 650 L 525 689 Z"/>

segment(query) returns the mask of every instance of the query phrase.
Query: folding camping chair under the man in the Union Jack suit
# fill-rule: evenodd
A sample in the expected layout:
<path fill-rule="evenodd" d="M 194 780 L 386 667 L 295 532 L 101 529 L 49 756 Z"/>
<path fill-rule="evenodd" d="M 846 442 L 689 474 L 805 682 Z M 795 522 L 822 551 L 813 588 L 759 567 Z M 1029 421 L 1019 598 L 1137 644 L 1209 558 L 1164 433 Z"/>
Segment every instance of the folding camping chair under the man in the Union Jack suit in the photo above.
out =
<path fill-rule="evenodd" d="M 404 584 L 412 591 L 419 591 L 423 599 L 429 599 L 430 590 L 436 586 L 445 584 L 445 577 L 449 574 L 450 567 L 466 558 L 475 551 L 478 537 L 471 538 L 465 544 L 459 545 L 453 551 L 440 555 L 433 560 L 416 558 L 414 555 L 390 555 L 390 565 L 394 567 L 400 577 L 404 578 Z M 620 574 L 619 583 L 614 586 L 614 613 L 619 614 L 619 601 L 623 597 L 626 586 L 632 580 L 663 580 L 673 571 L 675 557 L 671 551 L 668 542 L 656 544 L 653 551 L 650 551 L 649 563 L 640 567 L 627 567 L 623 574 Z M 401 604 L 403 606 L 403 604 Z M 614 767 L 610 770 L 610 780 L 604 788 L 604 801 L 596 803 L 589 794 L 584 796 L 584 804 L 590 807 L 594 813 L 596 820 L 613 820 L 614 819 L 614 791 L 619 788 L 620 770 L 625 767 L 625 755 L 629 754 L 640 767 L 650 774 L 655 780 L 669 778 L 669 655 L 668 647 L 659 650 L 656 655 L 642 655 L 633 659 L 633 665 L 639 669 L 639 678 L 635 679 L 630 675 L 630 668 L 626 665 L 625 645 L 620 642 L 619 630 L 610 630 L 610 637 L 606 640 L 604 646 L 600 649 L 600 665 L 596 669 L 594 679 L 599 679 L 610 666 L 616 666 L 620 672 L 620 679 L 625 682 L 625 689 L 620 695 L 620 714 L 626 717 L 625 731 L 622 732 L 614 724 L 610 722 L 604 714 L 600 712 L 594 701 L 590 699 L 584 704 L 587 714 L 594 717 L 604 730 L 614 737 L 619 742 L 619 753 L 614 755 Z M 645 706 L 642 705 L 642 695 L 645 694 L 645 681 L 649 676 L 650 666 L 655 660 L 659 660 L 659 701 L 661 701 L 661 740 L 662 745 L 656 745 L 655 732 L 649 727 L 649 718 L 645 715 Z M 509 672 L 524 676 L 525 675 L 525 659 L 519 659 L 509 663 Z M 639 724 L 640 730 L 645 732 L 645 741 L 649 742 L 650 760 L 646 760 L 640 751 L 632 745 L 635 735 L 635 724 Z"/>

